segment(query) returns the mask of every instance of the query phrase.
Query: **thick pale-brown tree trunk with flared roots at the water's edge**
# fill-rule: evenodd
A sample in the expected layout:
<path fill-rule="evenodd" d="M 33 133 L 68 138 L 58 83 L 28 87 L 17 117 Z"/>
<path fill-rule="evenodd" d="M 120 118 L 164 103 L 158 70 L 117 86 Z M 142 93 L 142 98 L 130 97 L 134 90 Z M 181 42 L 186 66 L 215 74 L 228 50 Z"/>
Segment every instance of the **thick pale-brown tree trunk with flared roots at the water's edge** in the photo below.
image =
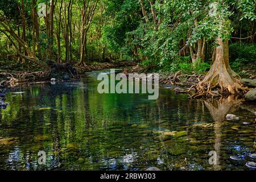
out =
<path fill-rule="evenodd" d="M 236 94 L 244 91 L 240 77 L 229 66 L 228 40 L 217 38 L 216 56 L 210 71 L 197 86 L 197 93 L 193 97 L 214 96 L 213 89 L 221 93 Z"/>

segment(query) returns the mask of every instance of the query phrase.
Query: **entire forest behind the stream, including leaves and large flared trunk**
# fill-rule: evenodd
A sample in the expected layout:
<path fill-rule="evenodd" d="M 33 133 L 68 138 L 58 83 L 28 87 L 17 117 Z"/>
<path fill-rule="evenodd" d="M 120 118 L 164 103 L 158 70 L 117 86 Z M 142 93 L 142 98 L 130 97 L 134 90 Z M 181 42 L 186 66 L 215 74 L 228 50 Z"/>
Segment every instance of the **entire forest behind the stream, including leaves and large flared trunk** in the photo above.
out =
<path fill-rule="evenodd" d="M 22 68 L 130 60 L 209 71 L 199 93 L 236 93 L 232 68 L 255 65 L 255 10 L 253 0 L 1 0 L 0 55 Z"/>

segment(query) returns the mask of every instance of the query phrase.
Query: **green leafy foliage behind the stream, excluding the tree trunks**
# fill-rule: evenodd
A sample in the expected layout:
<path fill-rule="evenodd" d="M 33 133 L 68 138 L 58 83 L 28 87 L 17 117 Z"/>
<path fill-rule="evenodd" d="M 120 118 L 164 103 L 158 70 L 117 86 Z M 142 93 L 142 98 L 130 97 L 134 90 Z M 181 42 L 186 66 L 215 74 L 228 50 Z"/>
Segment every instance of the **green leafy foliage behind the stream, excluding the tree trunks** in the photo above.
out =
<path fill-rule="evenodd" d="M 36 6 L 46 2 L 49 3 L 49 0 L 37 1 Z M 60 10 L 61 1 L 55 2 L 53 34 L 57 35 L 57 29 L 59 29 L 57 26 L 59 25 L 60 47 L 57 47 L 57 40 L 54 38 L 53 57 L 57 58 L 59 54 L 57 48 L 60 48 L 60 57 L 64 61 L 67 57 L 65 44 L 68 42 L 66 19 L 68 12 L 66 11 L 70 1 L 63 1 L 62 10 Z M 236 37 L 238 34 L 240 37 L 246 37 L 255 32 L 255 1 L 143 0 L 143 3 L 145 15 L 142 13 L 139 0 L 100 0 L 98 2 L 92 21 L 86 27 L 89 28 L 86 31 L 86 63 L 142 60 L 142 65 L 151 70 L 203 73 L 210 65 L 200 60 L 192 64 L 191 54 L 193 52 L 189 52 L 190 46 L 196 49 L 197 42 L 204 38 L 207 42 L 205 59 L 209 60 L 212 56 L 212 48 L 217 46 L 216 38 L 230 40 L 234 34 Z M 18 34 L 19 31 L 22 38 L 23 19 L 20 16 L 20 6 L 21 1 L 0 1 L 1 16 L 4 14 L 15 34 Z M 72 63 L 78 63 L 81 57 L 82 1 L 74 0 L 72 6 L 71 54 Z M 155 11 L 155 14 L 152 13 L 152 10 Z M 26 43 L 32 50 L 32 34 L 35 32 L 32 31 L 31 0 L 24 0 L 24 11 Z M 46 31 L 48 27 L 43 18 L 40 18 L 39 23 L 40 35 L 36 44 L 40 45 L 40 53 L 42 53 L 40 58 L 46 60 L 49 49 L 49 38 Z M 0 30 L 4 30 L 2 25 Z M 11 41 L 6 39 L 1 32 L 0 36 L 0 48 L 2 48 L 0 55 L 2 57 L 16 56 L 17 50 L 11 45 Z M 18 45 L 17 40 L 13 40 Z M 241 42 L 248 42 L 248 40 L 243 39 Z M 251 39 L 251 42 L 255 43 L 255 40 Z M 8 48 L 6 49 L 6 47 Z M 24 53 L 23 48 L 20 51 Z M 246 46 L 232 42 L 230 44 L 230 63 L 233 64 L 234 69 L 241 67 L 241 64 L 255 63 L 255 52 L 255 44 Z M 38 53 L 37 49 L 36 53 Z"/>

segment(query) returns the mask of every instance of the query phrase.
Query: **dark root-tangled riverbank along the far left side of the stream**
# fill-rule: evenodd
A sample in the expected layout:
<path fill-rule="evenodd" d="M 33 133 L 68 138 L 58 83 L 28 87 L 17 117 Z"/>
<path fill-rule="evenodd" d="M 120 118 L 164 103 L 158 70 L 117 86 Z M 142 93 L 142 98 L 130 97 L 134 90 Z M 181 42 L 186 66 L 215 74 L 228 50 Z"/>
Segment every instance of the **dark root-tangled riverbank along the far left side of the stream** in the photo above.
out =
<path fill-rule="evenodd" d="M 80 78 L 80 75 L 85 72 L 98 71 L 101 69 L 108 68 L 119 68 L 119 67 L 131 67 L 136 65 L 135 62 L 121 61 L 117 63 L 97 63 L 93 65 L 85 65 L 80 67 L 79 65 L 71 64 L 56 64 L 52 63 L 49 65 L 47 70 L 42 71 L 13 71 L 1 70 L 0 71 L 0 81 L 2 81 L 2 86 L 5 85 L 15 85 L 19 82 L 35 82 L 35 81 L 50 81 L 51 78 L 55 80 L 70 80 Z"/>

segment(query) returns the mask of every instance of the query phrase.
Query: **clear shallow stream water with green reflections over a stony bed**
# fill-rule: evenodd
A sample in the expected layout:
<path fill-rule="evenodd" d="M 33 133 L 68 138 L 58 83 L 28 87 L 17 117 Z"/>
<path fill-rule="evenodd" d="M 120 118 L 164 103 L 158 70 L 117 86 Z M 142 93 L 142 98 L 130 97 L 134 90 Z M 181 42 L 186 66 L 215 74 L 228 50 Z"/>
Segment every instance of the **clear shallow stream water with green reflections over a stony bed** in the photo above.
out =
<path fill-rule="evenodd" d="M 161 88 L 156 101 L 147 94 L 99 94 L 98 73 L 19 85 L 24 93 L 7 94 L 10 105 L 0 110 L 0 169 L 249 170 L 255 104 L 188 100 L 170 88 Z M 240 120 L 227 121 L 229 113 Z M 46 152 L 46 165 L 38 164 L 39 151 Z M 219 156 L 216 165 L 209 164 L 210 151 Z"/>

